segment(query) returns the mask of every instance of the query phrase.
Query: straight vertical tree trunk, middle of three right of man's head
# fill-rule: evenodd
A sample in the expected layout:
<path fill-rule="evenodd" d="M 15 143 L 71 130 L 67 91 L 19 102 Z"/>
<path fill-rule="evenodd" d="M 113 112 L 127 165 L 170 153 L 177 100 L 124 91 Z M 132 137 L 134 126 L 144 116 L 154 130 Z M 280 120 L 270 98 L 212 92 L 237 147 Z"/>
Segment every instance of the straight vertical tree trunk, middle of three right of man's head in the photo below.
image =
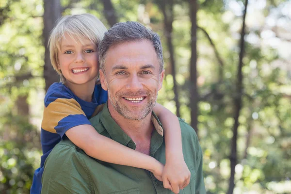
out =
<path fill-rule="evenodd" d="M 191 126 L 198 134 L 198 88 L 197 88 L 197 0 L 189 0 L 191 19 L 191 61 L 190 61 L 190 109 Z"/>

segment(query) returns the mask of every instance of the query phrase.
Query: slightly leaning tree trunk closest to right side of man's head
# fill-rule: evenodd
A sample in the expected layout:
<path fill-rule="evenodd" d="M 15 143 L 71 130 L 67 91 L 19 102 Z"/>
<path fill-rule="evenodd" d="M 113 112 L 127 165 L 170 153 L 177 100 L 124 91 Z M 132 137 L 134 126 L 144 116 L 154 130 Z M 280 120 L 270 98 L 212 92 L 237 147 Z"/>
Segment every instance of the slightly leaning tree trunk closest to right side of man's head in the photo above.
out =
<path fill-rule="evenodd" d="M 170 63 L 171 63 L 171 73 L 173 77 L 173 90 L 174 90 L 174 100 L 176 103 L 176 114 L 180 116 L 180 103 L 179 103 L 179 93 L 178 86 L 176 81 L 176 63 L 174 56 L 174 46 L 172 43 L 172 32 L 173 32 L 173 0 L 165 1 L 159 3 L 160 8 L 162 9 L 162 13 L 164 16 L 164 35 L 167 39 L 167 46 L 170 52 Z M 168 9 L 167 9 L 168 8 Z"/>

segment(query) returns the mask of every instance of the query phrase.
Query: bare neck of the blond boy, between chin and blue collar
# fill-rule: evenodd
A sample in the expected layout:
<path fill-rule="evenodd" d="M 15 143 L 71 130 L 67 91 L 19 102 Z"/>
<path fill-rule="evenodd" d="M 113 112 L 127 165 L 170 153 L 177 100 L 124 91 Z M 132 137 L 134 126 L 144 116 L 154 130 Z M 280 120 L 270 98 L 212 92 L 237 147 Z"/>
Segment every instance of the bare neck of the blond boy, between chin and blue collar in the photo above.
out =
<path fill-rule="evenodd" d="M 84 101 L 92 102 L 92 95 L 96 85 L 96 81 L 92 80 L 85 84 L 74 84 L 65 82 L 65 85 L 79 98 Z"/>

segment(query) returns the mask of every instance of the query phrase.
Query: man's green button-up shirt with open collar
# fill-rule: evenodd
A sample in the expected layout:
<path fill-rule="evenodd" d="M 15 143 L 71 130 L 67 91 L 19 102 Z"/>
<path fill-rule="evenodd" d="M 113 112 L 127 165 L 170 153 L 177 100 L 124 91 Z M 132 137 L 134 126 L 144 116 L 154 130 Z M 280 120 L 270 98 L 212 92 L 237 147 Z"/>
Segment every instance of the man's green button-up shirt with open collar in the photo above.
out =
<path fill-rule="evenodd" d="M 107 105 L 90 119 L 94 128 L 106 137 L 135 149 L 135 143 L 115 123 Z M 179 119 L 183 154 L 191 172 L 190 184 L 180 194 L 206 194 L 202 175 L 202 151 L 193 128 Z M 165 163 L 162 124 L 152 113 L 153 130 L 150 156 Z M 110 153 L 108 153 L 110 154 Z M 144 169 L 98 161 L 86 155 L 68 139 L 49 154 L 42 177 L 42 194 L 172 194 L 162 182 Z"/>

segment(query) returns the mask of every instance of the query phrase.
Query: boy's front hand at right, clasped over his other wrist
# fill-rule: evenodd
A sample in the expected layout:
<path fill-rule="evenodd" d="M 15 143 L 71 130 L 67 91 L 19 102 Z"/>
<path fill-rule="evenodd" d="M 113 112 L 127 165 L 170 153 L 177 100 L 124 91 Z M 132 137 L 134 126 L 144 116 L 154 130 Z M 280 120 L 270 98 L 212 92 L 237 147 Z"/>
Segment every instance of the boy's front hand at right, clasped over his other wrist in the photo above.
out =
<path fill-rule="evenodd" d="M 162 172 L 163 186 L 178 194 L 190 183 L 191 173 L 183 157 L 171 157 L 166 160 Z"/>

